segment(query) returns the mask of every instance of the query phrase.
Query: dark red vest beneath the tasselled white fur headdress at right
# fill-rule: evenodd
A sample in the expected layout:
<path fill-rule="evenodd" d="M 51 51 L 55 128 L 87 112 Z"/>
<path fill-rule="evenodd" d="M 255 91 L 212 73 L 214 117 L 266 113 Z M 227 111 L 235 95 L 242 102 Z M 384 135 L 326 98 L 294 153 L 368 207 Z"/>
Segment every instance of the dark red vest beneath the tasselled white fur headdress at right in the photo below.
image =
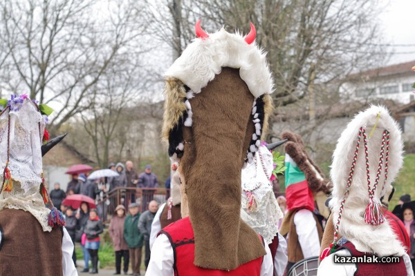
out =
<path fill-rule="evenodd" d="M 345 248 L 353 257 L 363 257 L 364 255 L 371 256 L 371 253 L 362 253 L 356 250 L 356 247 L 351 243 L 347 242 L 338 248 Z M 337 250 L 336 250 L 337 251 Z M 380 263 L 358 263 L 356 264 L 357 270 L 353 276 L 390 276 L 399 275 L 407 276 L 407 270 L 403 257 L 400 257 L 400 262 L 390 264 Z"/>

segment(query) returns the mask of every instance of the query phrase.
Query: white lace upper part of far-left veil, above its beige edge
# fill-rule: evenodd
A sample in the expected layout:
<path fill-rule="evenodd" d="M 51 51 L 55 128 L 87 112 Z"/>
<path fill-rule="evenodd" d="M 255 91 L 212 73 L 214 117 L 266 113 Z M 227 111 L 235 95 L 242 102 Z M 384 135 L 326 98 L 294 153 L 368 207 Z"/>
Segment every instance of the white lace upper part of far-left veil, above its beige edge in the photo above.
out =
<path fill-rule="evenodd" d="M 0 171 L 3 172 L 8 155 L 8 115 L 0 116 Z M 39 133 L 40 123 L 40 133 Z M 45 120 L 30 99 L 25 99 L 17 111 L 10 111 L 10 161 L 12 179 L 21 184 L 25 193 L 42 182 L 42 137 Z M 3 181 L 3 174 L 0 174 Z"/>

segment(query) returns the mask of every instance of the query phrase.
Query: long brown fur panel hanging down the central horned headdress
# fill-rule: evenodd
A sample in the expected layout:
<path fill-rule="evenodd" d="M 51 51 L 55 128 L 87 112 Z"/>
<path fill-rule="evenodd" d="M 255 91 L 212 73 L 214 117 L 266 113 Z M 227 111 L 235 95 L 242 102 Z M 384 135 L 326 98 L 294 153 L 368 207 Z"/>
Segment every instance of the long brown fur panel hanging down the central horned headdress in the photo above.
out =
<path fill-rule="evenodd" d="M 266 254 L 240 218 L 241 169 L 254 98 L 239 70 L 219 75 L 190 99 L 192 128 L 183 128 L 181 169 L 194 229 L 194 264 L 232 270 Z"/>

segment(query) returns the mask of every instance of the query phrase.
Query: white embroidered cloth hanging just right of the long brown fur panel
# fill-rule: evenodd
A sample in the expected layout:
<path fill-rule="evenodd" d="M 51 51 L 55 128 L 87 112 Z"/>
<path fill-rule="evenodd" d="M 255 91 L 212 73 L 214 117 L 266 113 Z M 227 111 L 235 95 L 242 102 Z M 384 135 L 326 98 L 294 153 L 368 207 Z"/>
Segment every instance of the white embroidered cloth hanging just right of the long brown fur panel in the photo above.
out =
<path fill-rule="evenodd" d="M 273 168 L 273 155 L 266 146 L 260 146 L 255 154 L 254 162 L 243 168 L 241 173 L 241 218 L 264 237 L 267 244 L 270 244 L 278 233 L 278 222 L 283 217 L 272 183 L 267 177 L 271 175 Z M 247 192 L 255 196 L 257 201 L 255 212 L 250 212 L 247 208 L 249 200 Z"/>

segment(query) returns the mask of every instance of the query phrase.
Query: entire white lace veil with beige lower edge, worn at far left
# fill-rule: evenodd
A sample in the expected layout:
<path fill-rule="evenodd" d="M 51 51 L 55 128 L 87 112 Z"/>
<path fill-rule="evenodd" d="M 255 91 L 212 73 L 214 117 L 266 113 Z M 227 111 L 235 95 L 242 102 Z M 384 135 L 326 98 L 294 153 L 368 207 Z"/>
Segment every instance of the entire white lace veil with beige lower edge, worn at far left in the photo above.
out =
<path fill-rule="evenodd" d="M 13 181 L 10 192 L 0 194 L 0 210 L 21 209 L 32 213 L 46 231 L 50 210 L 45 207 L 39 186 L 42 184 L 42 137 L 45 121 L 30 99 L 19 110 L 5 110 L 0 116 L 0 184 L 8 160 L 8 115 L 10 115 L 10 159 Z"/>

